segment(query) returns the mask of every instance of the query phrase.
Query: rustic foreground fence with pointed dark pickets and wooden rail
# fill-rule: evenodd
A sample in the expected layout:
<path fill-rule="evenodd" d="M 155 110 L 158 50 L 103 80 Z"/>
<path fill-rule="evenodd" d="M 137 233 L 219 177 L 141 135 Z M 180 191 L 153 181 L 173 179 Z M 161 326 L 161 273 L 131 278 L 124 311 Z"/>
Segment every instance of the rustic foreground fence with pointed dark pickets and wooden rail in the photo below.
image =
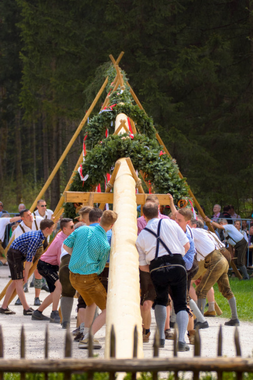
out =
<path fill-rule="evenodd" d="M 178 333 L 175 328 L 174 338 L 174 356 L 170 358 L 159 358 L 159 339 L 158 333 L 155 334 L 153 345 L 153 358 L 137 358 L 137 328 L 134 331 L 134 346 L 132 359 L 116 359 L 115 352 L 115 333 L 114 328 L 111 330 L 110 337 L 110 358 L 101 359 L 94 357 L 92 348 L 92 335 L 89 337 L 88 358 L 74 359 L 71 357 L 72 337 L 69 330 L 65 336 L 65 357 L 62 359 L 49 359 L 49 333 L 48 328 L 45 332 L 45 359 L 34 360 L 25 358 L 25 331 L 21 329 L 20 359 L 4 358 L 4 340 L 2 327 L 0 326 L 0 379 L 3 379 L 5 372 L 18 372 L 21 380 L 24 380 L 25 373 L 44 373 L 45 379 L 48 373 L 61 372 L 64 373 L 64 379 L 70 380 L 71 374 L 87 373 L 88 379 L 93 379 L 94 372 L 108 372 L 110 380 L 116 378 L 117 372 L 130 372 L 132 379 L 136 378 L 138 372 L 151 372 L 154 380 L 157 380 L 158 373 L 161 371 L 174 372 L 175 380 L 179 377 L 180 371 L 191 371 L 193 380 L 199 378 L 202 371 L 217 372 L 218 379 L 222 379 L 223 372 L 235 372 L 237 379 L 242 378 L 243 372 L 253 372 L 253 358 L 242 358 L 239 343 L 239 333 L 236 327 L 234 334 L 236 357 L 222 357 L 222 327 L 218 336 L 218 351 L 215 358 L 201 358 L 201 341 L 198 330 L 195 334 L 194 356 L 193 357 L 177 357 L 177 338 Z"/>

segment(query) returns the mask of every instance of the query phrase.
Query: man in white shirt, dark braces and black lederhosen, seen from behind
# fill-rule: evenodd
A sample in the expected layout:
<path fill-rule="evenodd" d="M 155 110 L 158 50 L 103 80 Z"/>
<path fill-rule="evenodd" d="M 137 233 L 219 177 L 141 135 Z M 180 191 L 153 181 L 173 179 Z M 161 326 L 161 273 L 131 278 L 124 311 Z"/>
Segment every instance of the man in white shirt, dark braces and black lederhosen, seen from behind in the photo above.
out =
<path fill-rule="evenodd" d="M 187 274 L 183 260 L 183 256 L 190 248 L 189 240 L 174 220 L 158 218 L 157 204 L 146 203 L 143 206 L 143 214 L 147 227 L 138 236 L 136 247 L 139 252 L 140 270 L 150 272 L 156 292 L 154 311 L 160 347 L 164 347 L 165 343 L 166 305 L 168 291 L 171 289 L 179 326 L 178 351 L 189 351 L 190 348 L 185 343 L 188 309 Z"/>

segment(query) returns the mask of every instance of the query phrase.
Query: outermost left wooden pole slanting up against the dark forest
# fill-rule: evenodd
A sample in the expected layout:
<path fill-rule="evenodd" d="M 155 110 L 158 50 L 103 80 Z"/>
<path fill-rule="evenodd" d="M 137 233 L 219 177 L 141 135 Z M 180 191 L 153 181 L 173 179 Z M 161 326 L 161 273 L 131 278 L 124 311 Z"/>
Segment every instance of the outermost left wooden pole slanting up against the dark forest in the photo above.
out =
<path fill-rule="evenodd" d="M 33 202 L 32 206 L 30 207 L 30 211 L 32 212 L 34 210 L 34 208 L 36 207 L 36 204 L 37 204 L 37 201 L 43 197 L 44 193 L 46 192 L 47 188 L 49 187 L 50 183 L 52 182 L 55 174 L 57 173 L 57 171 L 59 170 L 63 160 L 65 159 L 65 157 L 67 156 L 68 154 L 68 151 L 69 149 L 71 148 L 71 146 L 73 145 L 76 137 L 78 136 L 78 134 L 80 133 L 83 125 L 85 125 L 88 117 L 90 116 L 93 108 L 95 107 L 95 105 L 97 104 L 97 101 L 99 100 L 102 92 L 104 91 L 106 85 L 108 83 L 108 77 L 106 78 L 106 80 L 104 81 L 104 84 L 102 85 L 101 89 L 99 90 L 97 96 L 95 97 L 95 99 L 93 100 L 92 102 L 92 105 L 90 106 L 90 108 L 88 109 L 88 111 L 86 112 L 86 115 L 85 117 L 82 119 L 82 121 L 80 122 L 78 128 L 76 129 L 75 133 L 73 134 L 71 140 L 69 141 L 67 147 L 65 148 L 61 158 L 59 159 L 58 163 L 56 164 L 55 168 L 53 169 L 52 173 L 50 174 L 47 182 L 45 183 L 45 185 L 43 186 L 43 188 L 41 189 L 41 191 L 39 192 L 37 198 L 35 199 L 35 201 Z"/>

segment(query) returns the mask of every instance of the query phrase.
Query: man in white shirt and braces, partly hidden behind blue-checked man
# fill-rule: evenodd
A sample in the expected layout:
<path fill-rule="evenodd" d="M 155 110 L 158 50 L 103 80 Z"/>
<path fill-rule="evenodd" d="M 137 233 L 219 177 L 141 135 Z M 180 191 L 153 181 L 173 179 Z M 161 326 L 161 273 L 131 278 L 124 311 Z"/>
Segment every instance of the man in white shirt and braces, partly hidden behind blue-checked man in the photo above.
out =
<path fill-rule="evenodd" d="M 25 232 L 29 231 L 38 231 L 40 222 L 44 218 L 41 216 L 32 216 L 30 210 L 24 209 L 20 212 L 20 217 L 22 219 L 22 222 L 17 226 L 15 233 L 15 239 L 18 238 L 20 235 L 24 234 Z M 33 262 L 35 262 L 42 254 L 43 254 L 44 248 L 43 245 L 37 249 L 37 252 L 33 258 Z M 34 271 L 34 289 L 35 289 L 35 298 L 34 298 L 34 305 L 39 306 L 39 294 L 40 289 L 43 286 L 43 280 L 42 276 L 39 275 L 37 269 Z M 17 299 L 15 302 L 15 305 L 20 305 L 20 300 Z"/>

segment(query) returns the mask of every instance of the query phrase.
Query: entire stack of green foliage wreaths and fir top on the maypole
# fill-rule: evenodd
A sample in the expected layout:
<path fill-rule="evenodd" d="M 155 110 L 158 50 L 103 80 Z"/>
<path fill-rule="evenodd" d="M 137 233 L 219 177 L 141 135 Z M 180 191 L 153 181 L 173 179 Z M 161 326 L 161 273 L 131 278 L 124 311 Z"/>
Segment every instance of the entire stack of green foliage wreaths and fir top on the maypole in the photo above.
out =
<path fill-rule="evenodd" d="M 136 170 L 142 170 L 147 175 L 155 193 L 171 193 L 174 200 L 188 199 L 188 187 L 184 179 L 179 178 L 176 161 L 167 155 L 161 155 L 162 147 L 158 144 L 152 118 L 148 117 L 143 109 L 138 105 L 133 105 L 133 98 L 130 87 L 126 85 L 127 78 L 124 71 L 123 82 L 125 87 L 112 92 L 113 80 L 116 75 L 114 66 L 108 71 L 107 93 L 110 93 L 107 110 L 95 115 L 86 127 L 87 156 L 82 164 L 83 175 L 89 177 L 82 182 L 77 172 L 69 191 L 89 192 L 98 183 L 104 183 L 106 173 L 112 173 L 115 162 L 122 157 L 130 157 Z M 123 91 L 122 91 L 123 90 Z M 116 104 L 116 105 L 115 105 Z M 111 107 L 110 106 L 114 105 Z M 120 136 L 113 136 L 114 129 L 111 123 L 115 121 L 118 113 L 125 113 L 135 124 L 138 133 L 133 139 L 126 133 Z M 109 137 L 105 137 L 106 129 L 109 129 Z M 123 137 L 123 138 L 122 138 Z M 64 205 L 65 215 L 71 218 L 76 216 L 72 203 Z"/>

